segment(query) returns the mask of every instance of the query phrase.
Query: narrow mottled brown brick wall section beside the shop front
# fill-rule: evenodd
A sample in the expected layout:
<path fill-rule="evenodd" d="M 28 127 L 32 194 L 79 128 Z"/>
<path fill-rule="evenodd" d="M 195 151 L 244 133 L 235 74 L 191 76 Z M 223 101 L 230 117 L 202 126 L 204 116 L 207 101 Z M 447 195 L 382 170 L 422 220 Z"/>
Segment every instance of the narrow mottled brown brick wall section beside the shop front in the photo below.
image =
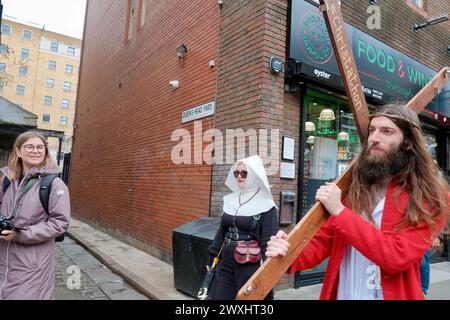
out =
<path fill-rule="evenodd" d="M 270 73 L 269 61 L 272 55 L 285 59 L 286 18 L 287 1 L 224 1 L 215 121 L 221 132 L 278 129 L 281 138 L 284 73 Z M 221 213 L 222 197 L 230 192 L 224 184 L 229 169 L 230 164 L 213 166 L 212 215 Z M 278 200 L 279 174 L 269 177 L 269 182 Z"/>

